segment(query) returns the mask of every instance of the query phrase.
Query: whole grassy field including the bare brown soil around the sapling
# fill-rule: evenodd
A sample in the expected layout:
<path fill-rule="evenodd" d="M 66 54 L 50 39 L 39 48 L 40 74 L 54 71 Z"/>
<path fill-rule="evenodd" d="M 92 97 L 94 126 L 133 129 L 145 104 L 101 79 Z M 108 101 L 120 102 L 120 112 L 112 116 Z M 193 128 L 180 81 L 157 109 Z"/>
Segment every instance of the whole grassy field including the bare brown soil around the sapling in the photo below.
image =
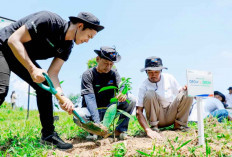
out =
<path fill-rule="evenodd" d="M 0 156 L 232 156 L 232 122 L 218 123 L 210 117 L 205 120 L 205 146 L 198 146 L 197 124 L 190 123 L 189 132 L 172 131 L 172 126 L 161 131 L 162 140 L 146 137 L 134 117 L 130 121 L 131 137 L 124 141 L 112 138 L 95 142 L 86 141 L 87 132 L 73 123 L 72 116 L 56 112 L 56 131 L 74 148 L 61 151 L 40 144 L 38 111 L 22 108 L 11 110 L 10 105 L 0 107 Z"/>

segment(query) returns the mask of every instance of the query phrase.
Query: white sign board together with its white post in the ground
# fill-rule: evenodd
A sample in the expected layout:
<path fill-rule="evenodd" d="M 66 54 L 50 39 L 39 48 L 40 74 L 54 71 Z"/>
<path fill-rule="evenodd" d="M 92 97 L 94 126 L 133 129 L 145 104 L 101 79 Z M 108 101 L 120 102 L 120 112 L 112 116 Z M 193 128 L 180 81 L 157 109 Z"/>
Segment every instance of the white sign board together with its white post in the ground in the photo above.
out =
<path fill-rule="evenodd" d="M 203 97 L 213 96 L 213 75 L 211 72 L 187 70 L 188 96 L 197 99 L 198 143 L 205 144 L 202 104 Z"/>

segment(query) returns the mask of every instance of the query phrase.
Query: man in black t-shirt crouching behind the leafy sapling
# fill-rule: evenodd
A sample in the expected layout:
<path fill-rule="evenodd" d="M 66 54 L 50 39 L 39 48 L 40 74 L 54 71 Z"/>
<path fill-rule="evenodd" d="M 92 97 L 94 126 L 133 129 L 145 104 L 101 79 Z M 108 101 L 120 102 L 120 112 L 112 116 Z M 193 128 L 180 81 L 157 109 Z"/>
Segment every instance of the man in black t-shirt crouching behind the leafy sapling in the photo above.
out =
<path fill-rule="evenodd" d="M 107 90 L 100 92 L 102 87 L 106 86 L 118 86 L 121 82 L 120 76 L 116 69 L 112 69 L 114 63 L 120 61 L 121 56 L 111 47 L 101 47 L 100 50 L 94 50 L 97 53 L 96 61 L 97 66 L 85 71 L 82 75 L 81 82 L 81 95 L 83 97 L 82 108 L 75 109 L 78 114 L 80 114 L 87 121 L 92 120 L 95 123 L 100 123 L 103 120 L 105 114 L 105 109 L 100 109 L 102 107 L 107 107 L 110 104 L 110 99 L 113 98 L 114 90 Z M 123 95 L 121 92 L 116 96 L 119 100 L 118 109 L 122 109 L 129 114 L 133 112 L 135 107 L 135 100 L 130 99 L 130 104 L 126 102 L 127 95 Z M 83 114 L 85 113 L 85 114 Z M 129 118 L 124 115 L 120 116 L 120 119 L 124 121 L 116 128 L 116 136 L 120 139 L 126 137 L 126 131 L 128 129 Z M 74 122 L 76 119 L 74 117 Z M 96 135 L 94 135 L 97 138 Z M 87 138 L 91 138 L 88 136 Z"/>

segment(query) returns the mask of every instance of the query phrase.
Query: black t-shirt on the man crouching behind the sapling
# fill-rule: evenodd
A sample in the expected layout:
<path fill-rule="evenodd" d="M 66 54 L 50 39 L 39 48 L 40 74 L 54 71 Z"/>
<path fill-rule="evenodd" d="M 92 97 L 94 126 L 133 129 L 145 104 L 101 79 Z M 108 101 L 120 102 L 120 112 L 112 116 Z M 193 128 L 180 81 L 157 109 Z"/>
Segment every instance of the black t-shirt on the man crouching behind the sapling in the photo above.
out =
<path fill-rule="evenodd" d="M 121 79 L 116 69 L 112 69 L 108 73 L 99 73 L 96 68 L 91 68 L 85 71 L 82 75 L 81 95 L 94 94 L 98 107 L 106 107 L 110 103 L 110 99 L 114 97 L 114 90 L 106 90 L 99 92 L 102 87 L 116 86 Z M 82 106 L 86 107 L 85 99 L 82 101 Z"/>

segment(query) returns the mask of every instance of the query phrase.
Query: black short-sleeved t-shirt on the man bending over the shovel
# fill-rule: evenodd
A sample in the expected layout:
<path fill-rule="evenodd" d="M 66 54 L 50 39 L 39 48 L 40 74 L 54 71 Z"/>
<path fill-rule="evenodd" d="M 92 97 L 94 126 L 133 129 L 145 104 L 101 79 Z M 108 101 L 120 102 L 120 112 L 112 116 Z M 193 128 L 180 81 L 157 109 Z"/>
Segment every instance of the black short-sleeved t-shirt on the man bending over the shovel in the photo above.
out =
<path fill-rule="evenodd" d="M 41 11 L 28 15 L 0 30 L 0 46 L 10 52 L 7 40 L 17 29 L 25 25 L 31 41 L 24 43 L 31 60 L 58 57 L 66 61 L 73 47 L 72 40 L 65 40 L 70 25 L 57 14 Z"/>

